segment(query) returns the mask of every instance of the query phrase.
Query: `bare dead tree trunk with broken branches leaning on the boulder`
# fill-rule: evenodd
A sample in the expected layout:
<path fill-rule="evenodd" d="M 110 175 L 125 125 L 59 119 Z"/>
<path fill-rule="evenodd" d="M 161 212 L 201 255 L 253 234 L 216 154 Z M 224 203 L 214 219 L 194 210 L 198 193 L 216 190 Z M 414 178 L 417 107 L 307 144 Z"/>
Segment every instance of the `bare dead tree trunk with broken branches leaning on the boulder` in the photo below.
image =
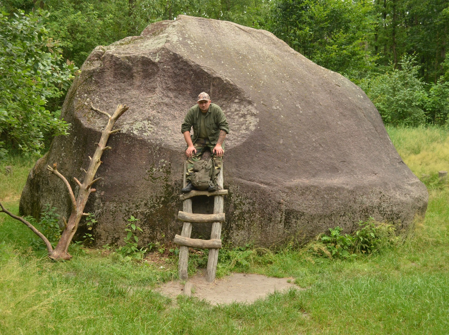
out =
<path fill-rule="evenodd" d="M 69 182 L 67 179 L 57 170 L 57 164 L 54 163 L 53 167 L 50 165 L 47 166 L 47 169 L 50 171 L 50 173 L 53 173 L 57 175 L 57 177 L 61 178 L 61 180 L 64 182 L 64 184 L 67 187 L 67 191 L 70 196 L 70 200 L 72 203 L 72 211 L 70 213 L 70 218 L 68 222 L 65 222 L 64 219 L 64 231 L 62 231 L 61 239 L 59 239 L 58 244 L 56 248 L 52 249 L 52 246 L 47 238 L 45 238 L 44 235 L 40 233 L 33 225 L 31 225 L 30 222 L 27 222 L 25 219 L 20 218 L 16 215 L 13 215 L 12 213 L 8 212 L 6 209 L 4 209 L 3 205 L 0 204 L 2 212 L 7 213 L 12 218 L 15 218 L 23 223 L 26 224 L 36 235 L 38 235 L 46 244 L 48 249 L 48 257 L 54 259 L 54 260 L 69 260 L 71 258 L 70 254 L 67 252 L 70 242 L 72 241 L 73 236 L 76 233 L 76 230 L 78 229 L 79 221 L 83 216 L 87 216 L 87 213 L 84 213 L 84 206 L 87 203 L 88 197 L 92 192 L 95 192 L 95 188 L 92 188 L 92 185 L 97 182 L 101 178 L 95 178 L 95 174 L 97 173 L 97 169 L 101 164 L 101 155 L 105 150 L 111 149 L 111 147 L 106 146 L 106 143 L 109 139 L 109 136 L 120 131 L 120 129 L 114 129 L 115 122 L 128 110 L 128 107 L 126 105 L 119 104 L 117 106 L 117 109 L 115 109 L 114 114 L 111 116 L 109 113 L 103 112 L 100 109 L 97 109 L 93 107 L 91 103 L 91 107 L 93 110 L 97 111 L 98 113 L 104 114 L 107 117 L 109 117 L 109 121 L 105 129 L 101 132 L 101 138 L 100 141 L 96 144 L 98 144 L 97 149 L 95 150 L 95 153 L 93 154 L 93 157 L 90 158 L 90 164 L 88 167 L 88 170 L 86 172 L 86 176 L 84 177 L 83 183 L 80 183 L 78 179 L 73 178 L 75 182 L 79 186 L 79 192 L 78 197 L 75 199 L 75 195 L 73 193 L 72 187 L 70 187 Z"/>

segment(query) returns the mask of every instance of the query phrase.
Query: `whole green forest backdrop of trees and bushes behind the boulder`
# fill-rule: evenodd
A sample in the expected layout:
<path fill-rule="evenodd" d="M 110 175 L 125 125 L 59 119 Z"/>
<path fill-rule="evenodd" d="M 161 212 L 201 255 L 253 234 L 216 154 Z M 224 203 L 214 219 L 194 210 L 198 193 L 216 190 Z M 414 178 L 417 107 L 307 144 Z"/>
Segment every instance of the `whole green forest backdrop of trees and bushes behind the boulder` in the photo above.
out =
<path fill-rule="evenodd" d="M 449 0 L 8 0 L 0 9 L 3 160 L 39 156 L 70 131 L 62 103 L 93 48 L 178 14 L 271 31 L 359 85 L 386 124 L 449 126 Z"/>

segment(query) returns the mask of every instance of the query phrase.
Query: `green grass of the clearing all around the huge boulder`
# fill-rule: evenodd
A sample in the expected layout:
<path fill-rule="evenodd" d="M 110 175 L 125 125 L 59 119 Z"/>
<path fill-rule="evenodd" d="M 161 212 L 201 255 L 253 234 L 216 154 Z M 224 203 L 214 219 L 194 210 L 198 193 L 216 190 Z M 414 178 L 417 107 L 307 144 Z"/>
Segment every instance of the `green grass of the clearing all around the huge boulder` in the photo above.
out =
<path fill-rule="evenodd" d="M 387 130 L 415 174 L 448 170 L 447 131 Z M 15 213 L 26 175 L 16 177 L 11 189 L 1 186 Z M 53 263 L 28 247 L 31 231 L 0 214 L 0 334 L 448 334 L 449 187 L 433 186 L 425 220 L 396 248 L 354 261 L 306 258 L 292 248 L 253 254 L 247 272 L 293 277 L 308 289 L 252 305 L 171 301 L 155 292 L 176 277 L 176 257 L 161 269 L 90 249 Z"/>

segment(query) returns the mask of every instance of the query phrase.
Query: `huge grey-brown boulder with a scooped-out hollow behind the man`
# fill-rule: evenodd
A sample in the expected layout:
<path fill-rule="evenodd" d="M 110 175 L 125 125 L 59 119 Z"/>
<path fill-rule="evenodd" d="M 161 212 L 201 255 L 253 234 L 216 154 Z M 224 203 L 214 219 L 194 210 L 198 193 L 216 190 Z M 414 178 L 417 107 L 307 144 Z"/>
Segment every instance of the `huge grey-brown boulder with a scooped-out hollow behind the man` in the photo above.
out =
<path fill-rule="evenodd" d="M 370 216 L 405 228 L 427 208 L 427 190 L 396 152 L 365 93 L 342 75 L 295 52 L 265 30 L 180 15 L 140 36 L 95 48 L 62 110 L 72 124 L 31 170 L 22 214 L 50 203 L 68 215 L 70 200 L 45 166 L 58 163 L 75 189 L 106 125 L 89 104 L 130 108 L 117 122 L 86 211 L 95 213 L 95 243 L 120 243 L 126 219 L 140 219 L 143 242 L 169 241 L 185 160 L 180 125 L 201 91 L 225 112 L 226 222 L 233 244 L 272 246 L 310 239 L 327 228 L 357 228 Z M 197 213 L 213 201 L 194 198 Z M 210 225 L 194 225 L 207 238 Z"/>

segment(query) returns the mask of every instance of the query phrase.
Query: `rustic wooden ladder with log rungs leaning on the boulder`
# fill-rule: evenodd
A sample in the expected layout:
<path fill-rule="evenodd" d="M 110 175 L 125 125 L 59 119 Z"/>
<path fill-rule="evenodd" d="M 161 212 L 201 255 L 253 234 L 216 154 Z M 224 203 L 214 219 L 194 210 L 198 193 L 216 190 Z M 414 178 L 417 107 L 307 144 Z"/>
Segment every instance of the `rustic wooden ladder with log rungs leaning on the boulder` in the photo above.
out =
<path fill-rule="evenodd" d="M 184 187 L 187 186 L 185 174 L 187 172 L 186 162 L 184 163 Z M 218 174 L 217 183 L 219 188 L 223 188 L 223 165 Z M 187 263 L 189 261 L 189 247 L 209 249 L 207 260 L 206 280 L 211 283 L 215 279 L 217 272 L 218 249 L 221 248 L 221 223 L 225 222 L 223 213 L 223 196 L 228 194 L 228 190 L 218 190 L 213 192 L 193 190 L 189 193 L 181 194 L 179 197 L 183 202 L 182 211 L 178 212 L 178 220 L 184 222 L 181 235 L 176 234 L 173 242 L 180 245 L 178 273 L 181 280 L 187 280 Z M 215 196 L 213 214 L 192 213 L 192 197 L 194 196 Z M 192 223 L 212 223 L 211 239 L 191 239 Z"/>

